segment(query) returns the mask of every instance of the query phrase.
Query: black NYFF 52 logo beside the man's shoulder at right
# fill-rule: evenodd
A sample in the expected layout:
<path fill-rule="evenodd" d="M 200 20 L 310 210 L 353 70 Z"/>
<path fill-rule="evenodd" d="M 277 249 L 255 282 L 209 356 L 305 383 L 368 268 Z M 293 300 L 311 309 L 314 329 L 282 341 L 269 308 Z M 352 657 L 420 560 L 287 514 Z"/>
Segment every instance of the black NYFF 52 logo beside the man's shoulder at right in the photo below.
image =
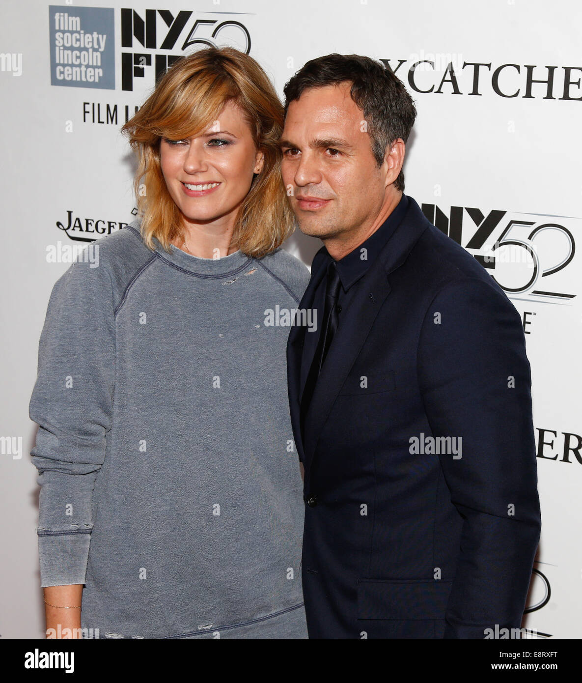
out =
<path fill-rule="evenodd" d="M 556 275 L 572 262 L 576 251 L 572 232 L 581 219 L 502 210 L 485 215 L 463 206 L 451 206 L 447 214 L 435 204 L 422 204 L 422 212 L 488 268 L 508 296 L 525 294 L 529 301 L 547 303 L 566 303 L 577 296 L 562 291 L 564 279 L 543 278 Z"/>

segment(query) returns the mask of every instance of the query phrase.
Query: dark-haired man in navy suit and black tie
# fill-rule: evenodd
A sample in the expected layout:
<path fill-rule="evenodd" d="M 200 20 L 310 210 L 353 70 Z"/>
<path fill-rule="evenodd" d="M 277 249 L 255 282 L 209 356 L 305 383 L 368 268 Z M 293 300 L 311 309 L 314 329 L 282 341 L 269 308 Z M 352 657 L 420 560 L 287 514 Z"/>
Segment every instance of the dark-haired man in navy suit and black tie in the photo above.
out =
<path fill-rule="evenodd" d="M 324 244 L 318 329 L 287 346 L 309 636 L 519 628 L 540 536 L 521 318 L 403 194 L 416 110 L 392 72 L 319 57 L 285 96 L 282 177 Z"/>

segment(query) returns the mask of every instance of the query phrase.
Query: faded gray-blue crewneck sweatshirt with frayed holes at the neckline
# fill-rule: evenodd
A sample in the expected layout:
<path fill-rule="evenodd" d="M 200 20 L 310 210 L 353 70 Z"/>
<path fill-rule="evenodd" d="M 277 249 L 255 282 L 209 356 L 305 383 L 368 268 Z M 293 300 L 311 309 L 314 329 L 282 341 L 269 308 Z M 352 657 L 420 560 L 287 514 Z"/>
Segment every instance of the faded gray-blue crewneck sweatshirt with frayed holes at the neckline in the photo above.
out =
<path fill-rule="evenodd" d="M 289 326 L 265 321 L 308 280 L 283 249 L 151 251 L 134 221 L 55 283 L 37 533 L 42 586 L 85 584 L 85 637 L 306 637 Z"/>

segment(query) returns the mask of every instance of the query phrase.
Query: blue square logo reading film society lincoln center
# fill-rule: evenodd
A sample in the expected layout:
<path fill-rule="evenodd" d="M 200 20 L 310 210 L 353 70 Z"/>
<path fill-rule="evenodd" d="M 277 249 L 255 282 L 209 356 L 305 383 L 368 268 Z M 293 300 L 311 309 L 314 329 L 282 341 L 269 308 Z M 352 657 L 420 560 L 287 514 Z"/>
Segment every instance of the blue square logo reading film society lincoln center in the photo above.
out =
<path fill-rule="evenodd" d="M 113 8 L 50 5 L 50 83 L 115 90 Z"/>

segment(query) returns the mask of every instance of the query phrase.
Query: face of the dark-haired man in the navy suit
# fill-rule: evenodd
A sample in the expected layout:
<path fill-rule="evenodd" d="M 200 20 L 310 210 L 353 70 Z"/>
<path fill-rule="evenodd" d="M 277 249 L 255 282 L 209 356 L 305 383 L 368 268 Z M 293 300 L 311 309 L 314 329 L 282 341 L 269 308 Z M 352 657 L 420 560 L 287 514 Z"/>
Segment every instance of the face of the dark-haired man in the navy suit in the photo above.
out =
<path fill-rule="evenodd" d="M 289 104 L 281 135 L 282 178 L 301 232 L 344 240 L 372 225 L 385 198 L 351 83 L 305 90 Z"/>

